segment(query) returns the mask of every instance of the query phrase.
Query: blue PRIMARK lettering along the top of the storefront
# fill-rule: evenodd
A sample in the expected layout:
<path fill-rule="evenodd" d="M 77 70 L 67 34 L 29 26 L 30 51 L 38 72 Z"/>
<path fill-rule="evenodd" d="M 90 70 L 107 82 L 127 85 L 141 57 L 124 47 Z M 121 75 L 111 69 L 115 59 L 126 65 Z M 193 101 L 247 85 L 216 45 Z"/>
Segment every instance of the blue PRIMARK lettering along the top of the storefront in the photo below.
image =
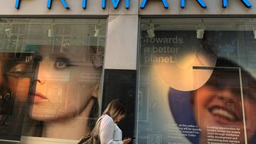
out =
<path fill-rule="evenodd" d="M 15 3 L 16 9 L 20 8 L 21 1 L 22 0 L 16 0 L 16 3 Z M 52 1 L 53 0 L 47 0 L 47 8 L 48 9 L 51 9 Z M 167 3 L 167 1 L 166 0 L 161 0 L 161 1 L 162 1 L 162 4 L 164 5 L 164 8 L 169 9 L 169 4 Z M 181 9 L 184 9 L 186 7 L 186 0 L 180 0 L 180 1 L 181 1 Z M 191 0 L 191 1 L 197 1 L 199 6 L 201 6 L 204 9 L 207 8 L 207 4 L 203 0 Z M 235 0 L 232 0 L 232 1 L 235 1 Z M 237 0 L 237 1 L 241 1 L 242 4 L 244 4 L 247 8 L 252 7 L 249 0 Z M 60 0 L 60 2 L 63 4 L 63 7 L 65 9 L 70 9 L 70 7 L 68 6 L 68 3 L 65 0 Z M 120 0 L 112 0 L 112 5 L 113 5 L 114 9 L 117 9 L 119 2 L 120 2 Z M 142 4 L 140 5 L 140 8 L 144 9 L 146 7 L 146 3 L 147 3 L 147 0 L 143 0 Z M 87 0 L 82 0 L 82 9 L 86 9 L 86 5 L 87 5 Z M 222 6 L 223 6 L 223 8 L 227 8 L 228 0 L 222 0 Z M 102 0 L 102 9 L 105 9 L 105 8 L 106 8 L 106 0 Z M 129 9 L 129 0 L 125 0 L 125 8 Z"/>

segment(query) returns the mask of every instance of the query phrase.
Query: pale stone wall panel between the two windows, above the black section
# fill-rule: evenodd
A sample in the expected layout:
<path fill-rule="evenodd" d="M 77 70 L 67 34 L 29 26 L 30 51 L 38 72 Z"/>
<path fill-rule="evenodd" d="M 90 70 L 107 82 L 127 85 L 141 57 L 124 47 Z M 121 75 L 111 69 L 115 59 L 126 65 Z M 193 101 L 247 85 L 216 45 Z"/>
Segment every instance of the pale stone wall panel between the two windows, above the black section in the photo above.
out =
<path fill-rule="evenodd" d="M 136 70 L 138 16 L 109 16 L 105 69 Z"/>

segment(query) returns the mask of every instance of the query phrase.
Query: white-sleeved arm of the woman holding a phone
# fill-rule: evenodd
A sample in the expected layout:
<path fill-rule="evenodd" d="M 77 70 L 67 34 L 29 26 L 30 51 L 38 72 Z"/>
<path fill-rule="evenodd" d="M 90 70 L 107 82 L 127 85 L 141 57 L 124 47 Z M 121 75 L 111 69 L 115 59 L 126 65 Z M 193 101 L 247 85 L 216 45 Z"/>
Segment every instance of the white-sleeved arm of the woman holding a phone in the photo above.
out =
<path fill-rule="evenodd" d="M 114 121 L 108 116 L 104 116 L 100 122 L 100 143 L 101 144 L 123 144 L 122 140 L 114 141 Z"/>

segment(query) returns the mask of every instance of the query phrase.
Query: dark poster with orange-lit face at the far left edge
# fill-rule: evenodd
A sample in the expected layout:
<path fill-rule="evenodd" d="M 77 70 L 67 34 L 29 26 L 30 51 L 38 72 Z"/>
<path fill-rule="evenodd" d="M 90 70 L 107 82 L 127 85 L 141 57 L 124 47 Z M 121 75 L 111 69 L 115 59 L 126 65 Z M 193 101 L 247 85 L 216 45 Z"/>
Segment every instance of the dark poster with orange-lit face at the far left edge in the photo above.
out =
<path fill-rule="evenodd" d="M 20 141 L 23 119 L 28 112 L 29 84 L 35 74 L 33 53 L 0 55 L 0 140 Z"/>

